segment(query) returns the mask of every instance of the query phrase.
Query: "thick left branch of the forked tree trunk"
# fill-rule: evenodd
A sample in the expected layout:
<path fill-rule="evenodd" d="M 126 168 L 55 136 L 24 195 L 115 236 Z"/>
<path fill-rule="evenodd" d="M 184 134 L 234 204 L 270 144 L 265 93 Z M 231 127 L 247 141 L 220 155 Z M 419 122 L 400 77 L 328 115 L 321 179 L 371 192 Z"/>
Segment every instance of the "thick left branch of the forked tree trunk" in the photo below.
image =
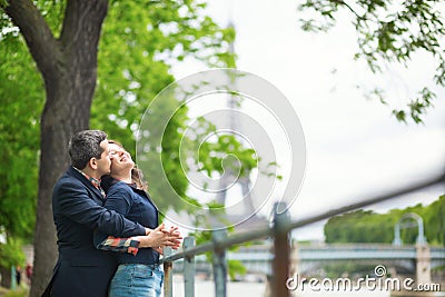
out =
<path fill-rule="evenodd" d="M 53 72 L 58 43 L 40 11 L 30 0 L 8 1 L 4 12 L 19 27 L 43 78 Z"/>

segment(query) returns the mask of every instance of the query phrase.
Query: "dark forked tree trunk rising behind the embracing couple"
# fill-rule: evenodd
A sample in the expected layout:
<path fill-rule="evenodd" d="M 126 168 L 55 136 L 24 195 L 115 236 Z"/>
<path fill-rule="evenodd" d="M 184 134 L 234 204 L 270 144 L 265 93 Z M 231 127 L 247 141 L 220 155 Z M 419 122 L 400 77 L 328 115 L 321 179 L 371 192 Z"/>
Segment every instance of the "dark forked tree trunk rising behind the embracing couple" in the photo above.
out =
<path fill-rule="evenodd" d="M 40 122 L 39 195 L 30 297 L 42 294 L 57 260 L 52 187 L 69 165 L 69 138 L 89 126 L 98 42 L 107 8 L 107 0 L 69 0 L 59 40 L 53 39 L 32 1 L 14 0 L 6 8 L 27 41 L 47 91 Z"/>

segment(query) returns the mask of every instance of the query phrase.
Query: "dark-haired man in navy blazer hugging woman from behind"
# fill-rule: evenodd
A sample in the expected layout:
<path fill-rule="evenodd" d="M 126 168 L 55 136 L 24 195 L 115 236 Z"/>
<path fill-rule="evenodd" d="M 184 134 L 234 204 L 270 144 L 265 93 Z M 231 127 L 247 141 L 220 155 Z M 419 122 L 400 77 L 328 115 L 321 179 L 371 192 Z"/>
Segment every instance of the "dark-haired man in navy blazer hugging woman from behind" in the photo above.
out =
<path fill-rule="evenodd" d="M 95 229 L 115 237 L 138 236 L 113 240 L 110 248 L 132 254 L 138 247 L 177 246 L 178 236 L 150 230 L 102 207 L 100 177 L 110 172 L 111 164 L 105 132 L 80 131 L 68 149 L 71 167 L 56 182 L 52 194 L 59 259 L 43 296 L 106 297 L 117 264 L 111 251 L 93 246 Z"/>

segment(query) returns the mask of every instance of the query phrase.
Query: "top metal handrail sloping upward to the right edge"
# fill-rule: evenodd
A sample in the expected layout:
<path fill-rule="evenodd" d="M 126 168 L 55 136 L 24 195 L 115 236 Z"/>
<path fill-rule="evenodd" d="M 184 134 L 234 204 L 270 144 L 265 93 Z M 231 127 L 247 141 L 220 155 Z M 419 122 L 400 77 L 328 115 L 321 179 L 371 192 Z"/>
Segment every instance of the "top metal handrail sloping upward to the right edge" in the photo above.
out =
<path fill-rule="evenodd" d="M 422 181 L 418 184 L 415 184 L 411 187 L 405 187 L 403 189 L 398 189 L 395 191 L 390 191 L 387 192 L 385 195 L 380 195 L 380 196 L 376 196 L 376 197 L 372 197 L 369 199 L 356 202 L 356 204 L 352 204 L 348 206 L 344 206 L 337 209 L 333 209 L 333 210 L 328 210 L 328 211 L 320 211 L 320 214 L 316 214 L 313 216 L 309 216 L 308 218 L 305 219 L 300 219 L 300 220 L 296 220 L 293 221 L 290 224 L 287 224 L 286 226 L 281 226 L 279 231 L 289 231 L 291 229 L 295 228 L 299 228 L 306 225 L 310 225 L 313 222 L 319 221 L 319 220 L 324 220 L 327 218 L 330 218 L 333 216 L 337 216 L 337 215 L 342 215 L 344 212 L 348 212 L 352 210 L 356 210 L 356 209 L 360 209 L 363 207 L 366 206 L 370 206 L 370 205 L 375 205 L 377 202 L 382 202 L 385 200 L 389 200 L 394 197 L 404 195 L 404 194 L 408 194 L 415 190 L 419 190 L 423 188 L 427 188 L 434 185 L 437 185 L 439 182 L 444 182 L 445 181 L 445 175 L 442 175 L 439 177 L 434 177 L 432 179 L 428 179 L 426 181 Z M 248 232 L 240 232 L 240 234 L 236 234 L 233 236 L 228 236 L 224 241 L 215 241 L 215 242 L 206 242 L 199 246 L 195 246 L 190 249 L 187 249 L 185 251 L 181 253 L 177 253 L 175 255 L 165 257 L 162 259 L 160 259 L 160 263 L 165 263 L 165 261 L 175 261 L 185 257 L 190 257 L 190 256 L 195 256 L 195 255 L 199 255 L 199 254 L 204 254 L 206 251 L 210 251 L 210 250 L 215 250 L 216 248 L 228 248 L 230 246 L 234 245 L 239 245 L 243 242 L 247 242 L 247 241 L 253 241 L 255 239 L 259 239 L 259 238 L 264 238 L 264 237 L 269 237 L 269 236 L 274 236 L 275 235 L 275 230 L 271 229 L 270 226 L 265 226 L 264 228 L 259 228 L 256 230 L 250 230 Z"/>

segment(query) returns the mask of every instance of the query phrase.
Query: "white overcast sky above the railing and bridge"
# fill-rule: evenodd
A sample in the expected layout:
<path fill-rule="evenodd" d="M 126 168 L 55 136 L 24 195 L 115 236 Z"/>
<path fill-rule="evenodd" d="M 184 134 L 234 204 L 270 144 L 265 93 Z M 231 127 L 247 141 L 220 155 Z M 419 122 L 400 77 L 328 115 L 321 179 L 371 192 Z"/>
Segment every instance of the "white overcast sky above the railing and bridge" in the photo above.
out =
<path fill-rule="evenodd" d="M 402 107 L 406 98 L 431 85 L 432 60 L 418 55 L 408 70 L 388 66 L 385 75 L 375 77 L 363 61 L 353 61 L 356 36 L 346 13 L 328 33 L 307 33 L 298 27 L 301 12 L 296 7 L 294 0 L 211 0 L 208 7 L 218 23 L 226 26 L 231 19 L 235 24 L 238 69 L 275 85 L 304 128 L 307 168 L 291 207 L 293 218 L 337 208 L 444 170 L 444 90 L 437 89 L 435 107 L 423 125 L 400 123 L 390 115 L 392 107 L 364 97 L 366 90 L 380 87 L 387 90 L 393 107 Z M 197 70 L 206 67 L 186 61 L 175 66 L 174 73 L 184 78 Z M 286 147 L 276 142 L 278 151 Z M 286 158 L 286 154 L 280 156 Z M 289 170 L 288 161 L 278 159 L 278 164 L 285 178 L 275 198 L 281 195 Z M 429 204 L 444 191 L 444 187 L 435 187 L 373 209 Z M 323 238 L 323 228 L 318 224 L 297 234 L 300 239 Z"/>

